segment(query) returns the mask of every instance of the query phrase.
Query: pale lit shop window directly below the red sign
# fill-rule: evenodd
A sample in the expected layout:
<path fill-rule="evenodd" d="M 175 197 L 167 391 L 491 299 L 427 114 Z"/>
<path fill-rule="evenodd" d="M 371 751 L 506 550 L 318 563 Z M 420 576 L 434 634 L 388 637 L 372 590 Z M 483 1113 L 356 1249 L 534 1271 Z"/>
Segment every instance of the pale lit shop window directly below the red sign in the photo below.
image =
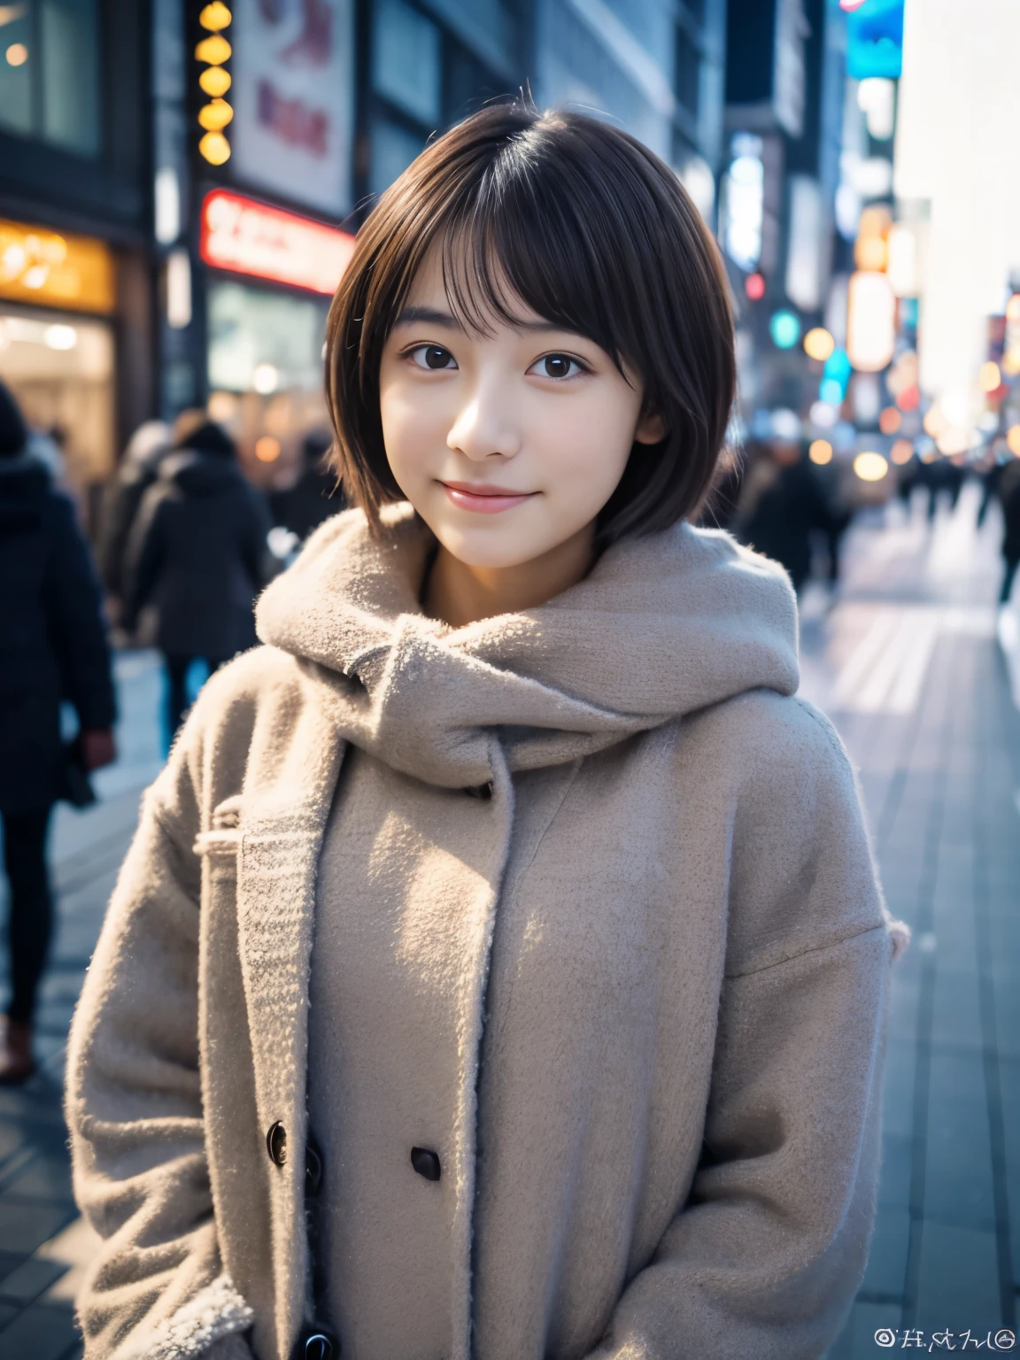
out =
<path fill-rule="evenodd" d="M 273 392 L 322 386 L 328 301 L 215 283 L 209 288 L 209 386 Z"/>

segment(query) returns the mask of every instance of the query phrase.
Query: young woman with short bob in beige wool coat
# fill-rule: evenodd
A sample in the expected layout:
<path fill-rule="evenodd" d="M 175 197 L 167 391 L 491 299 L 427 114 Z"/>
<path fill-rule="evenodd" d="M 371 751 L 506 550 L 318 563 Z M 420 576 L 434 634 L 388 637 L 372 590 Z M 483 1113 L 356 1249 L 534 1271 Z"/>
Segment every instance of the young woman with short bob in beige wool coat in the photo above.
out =
<path fill-rule="evenodd" d="M 820 1356 L 889 922 L 781 568 L 692 529 L 724 269 L 490 107 L 362 228 L 344 487 L 150 792 L 71 1054 L 86 1356 Z"/>

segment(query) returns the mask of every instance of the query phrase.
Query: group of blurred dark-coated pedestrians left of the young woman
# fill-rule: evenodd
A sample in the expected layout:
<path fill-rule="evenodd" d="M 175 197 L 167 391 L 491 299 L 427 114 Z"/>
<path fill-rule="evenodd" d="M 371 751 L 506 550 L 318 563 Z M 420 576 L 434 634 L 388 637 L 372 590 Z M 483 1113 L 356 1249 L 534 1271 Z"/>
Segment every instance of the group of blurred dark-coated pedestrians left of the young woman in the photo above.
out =
<path fill-rule="evenodd" d="M 34 1070 L 31 1024 L 53 930 L 46 843 L 58 801 L 94 801 L 116 759 L 112 643 L 155 646 L 166 732 L 205 673 L 256 642 L 253 602 L 307 534 L 343 509 L 325 435 L 284 491 L 245 477 L 204 411 L 136 431 L 107 491 L 99 541 L 61 488 L 58 450 L 30 431 L 0 384 L 0 820 L 8 881 L 11 996 L 0 1083 Z"/>

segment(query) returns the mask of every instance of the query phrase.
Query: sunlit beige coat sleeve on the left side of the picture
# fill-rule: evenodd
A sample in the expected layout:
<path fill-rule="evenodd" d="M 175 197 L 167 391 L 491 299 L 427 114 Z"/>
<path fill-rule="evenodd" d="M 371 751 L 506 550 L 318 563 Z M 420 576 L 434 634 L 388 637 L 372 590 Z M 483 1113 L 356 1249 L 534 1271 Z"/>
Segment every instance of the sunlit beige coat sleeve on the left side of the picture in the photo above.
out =
<path fill-rule="evenodd" d="M 220 1263 L 199 1080 L 197 717 L 146 797 L 71 1031 L 75 1195 L 103 1239 L 79 1297 L 86 1360 L 250 1356 L 252 1311 Z"/>

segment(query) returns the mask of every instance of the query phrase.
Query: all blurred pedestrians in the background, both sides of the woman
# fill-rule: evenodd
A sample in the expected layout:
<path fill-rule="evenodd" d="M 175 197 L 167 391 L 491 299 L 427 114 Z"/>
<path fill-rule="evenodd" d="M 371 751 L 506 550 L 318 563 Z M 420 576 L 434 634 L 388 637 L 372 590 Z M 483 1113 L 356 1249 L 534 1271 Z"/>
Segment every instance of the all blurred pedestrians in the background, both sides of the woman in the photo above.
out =
<path fill-rule="evenodd" d="M 116 759 L 112 645 L 162 653 L 171 740 L 193 668 L 208 675 L 256 642 L 256 596 L 343 509 L 329 442 L 309 435 L 294 484 L 264 494 L 205 411 L 184 411 L 173 426 L 147 422 L 107 488 L 92 548 L 61 490 L 58 450 L 26 427 L 0 384 L 0 817 L 12 979 L 0 1083 L 33 1070 L 31 1019 L 53 923 L 53 806 L 86 805 L 91 772 Z M 1020 564 L 1020 458 L 1005 441 L 976 464 L 915 456 L 896 473 L 904 500 L 926 494 L 929 521 L 940 500 L 956 505 L 966 476 L 981 479 L 979 518 L 1001 505 L 1008 601 Z M 781 562 L 800 594 L 811 579 L 835 588 L 855 509 L 836 464 L 816 465 L 790 430 L 726 450 L 702 524 Z"/>

